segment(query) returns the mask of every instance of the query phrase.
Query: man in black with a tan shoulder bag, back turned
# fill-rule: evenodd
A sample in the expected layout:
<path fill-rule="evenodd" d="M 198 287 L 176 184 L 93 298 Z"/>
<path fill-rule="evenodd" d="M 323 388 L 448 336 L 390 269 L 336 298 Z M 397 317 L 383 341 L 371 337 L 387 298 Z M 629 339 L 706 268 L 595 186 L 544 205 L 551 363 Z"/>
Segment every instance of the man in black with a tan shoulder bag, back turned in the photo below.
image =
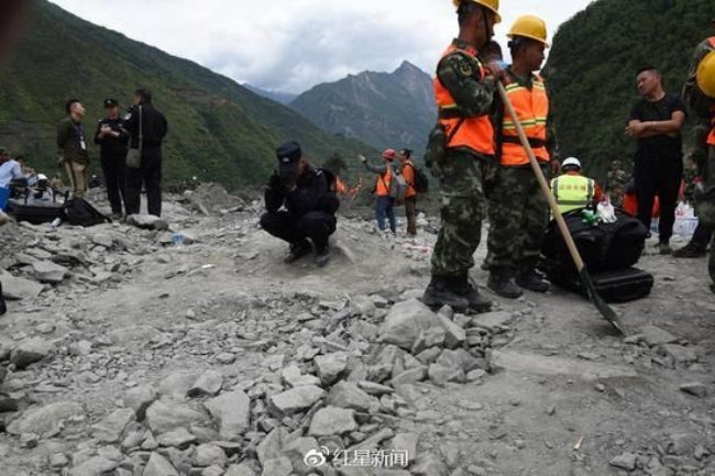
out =
<path fill-rule="evenodd" d="M 138 89 L 134 91 L 134 106 L 129 110 L 124 122 L 127 131 L 132 136 L 130 147 L 142 151 L 141 166 L 127 169 L 127 196 L 124 199 L 127 214 L 139 213 L 143 184 L 146 188 L 148 213 L 161 217 L 162 142 L 167 133 L 166 118 L 152 106 L 152 93 L 146 89 Z"/>

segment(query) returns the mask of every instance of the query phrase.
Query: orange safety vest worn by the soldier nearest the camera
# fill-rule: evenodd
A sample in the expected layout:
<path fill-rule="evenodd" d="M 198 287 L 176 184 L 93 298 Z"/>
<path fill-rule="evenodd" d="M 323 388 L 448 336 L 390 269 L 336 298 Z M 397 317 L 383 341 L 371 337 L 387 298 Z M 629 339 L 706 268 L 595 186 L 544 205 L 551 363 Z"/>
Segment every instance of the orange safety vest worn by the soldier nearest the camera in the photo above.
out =
<path fill-rule="evenodd" d="M 486 77 L 484 66 L 476 58 L 476 49 L 472 47 L 460 49 L 454 45 L 450 45 L 442 54 L 442 58 L 454 51 L 459 51 L 474 59 L 474 64 L 479 66 L 476 80 L 482 81 Z M 444 146 L 447 148 L 466 147 L 481 155 L 494 155 L 494 128 L 490 117 L 487 114 L 460 117 L 459 104 L 437 76 L 433 84 L 435 100 L 440 115 L 439 122 L 444 126 L 447 136 L 450 137 L 451 135 L 450 141 Z M 460 124 L 459 129 L 453 132 L 458 124 Z"/>

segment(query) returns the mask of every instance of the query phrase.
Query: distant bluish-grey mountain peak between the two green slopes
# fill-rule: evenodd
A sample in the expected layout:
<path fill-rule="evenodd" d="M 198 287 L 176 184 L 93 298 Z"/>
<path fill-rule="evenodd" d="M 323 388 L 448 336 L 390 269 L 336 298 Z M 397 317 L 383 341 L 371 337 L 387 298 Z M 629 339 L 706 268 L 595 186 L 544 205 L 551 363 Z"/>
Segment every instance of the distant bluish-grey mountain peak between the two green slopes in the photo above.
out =
<path fill-rule="evenodd" d="M 289 106 L 332 133 L 421 155 L 437 119 L 432 91 L 430 76 L 404 62 L 394 73 L 364 71 L 315 86 Z"/>

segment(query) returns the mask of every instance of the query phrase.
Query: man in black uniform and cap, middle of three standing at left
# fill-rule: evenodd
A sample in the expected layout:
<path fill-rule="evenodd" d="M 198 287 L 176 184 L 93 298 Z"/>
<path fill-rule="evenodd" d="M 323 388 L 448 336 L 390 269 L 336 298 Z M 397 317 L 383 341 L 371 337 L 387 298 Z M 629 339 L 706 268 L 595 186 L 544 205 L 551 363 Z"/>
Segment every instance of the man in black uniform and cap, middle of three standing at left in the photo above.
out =
<path fill-rule="evenodd" d="M 97 124 L 95 144 L 99 145 L 112 219 L 119 220 L 122 218 L 122 202 L 127 202 L 124 186 L 129 134 L 124 131 L 124 121 L 119 117 L 119 102 L 116 99 L 106 99 L 105 110 L 107 118 Z"/>

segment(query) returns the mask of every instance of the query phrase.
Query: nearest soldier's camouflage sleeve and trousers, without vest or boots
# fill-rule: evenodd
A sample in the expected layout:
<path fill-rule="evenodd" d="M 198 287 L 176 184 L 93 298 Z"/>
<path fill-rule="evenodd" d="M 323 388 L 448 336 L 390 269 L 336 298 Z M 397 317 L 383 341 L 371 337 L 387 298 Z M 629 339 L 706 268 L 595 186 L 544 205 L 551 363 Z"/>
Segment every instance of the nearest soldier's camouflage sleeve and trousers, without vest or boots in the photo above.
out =
<path fill-rule="evenodd" d="M 454 40 L 461 49 L 466 45 Z M 486 114 L 496 90 L 492 77 L 479 81 L 462 53 L 453 52 L 439 63 L 437 77 L 466 115 Z M 455 277 L 474 266 L 473 254 L 482 239 L 485 212 L 482 168 L 491 157 L 471 148 L 448 148 L 441 163 L 432 165 L 439 181 L 442 226 L 432 254 L 432 276 Z"/>

